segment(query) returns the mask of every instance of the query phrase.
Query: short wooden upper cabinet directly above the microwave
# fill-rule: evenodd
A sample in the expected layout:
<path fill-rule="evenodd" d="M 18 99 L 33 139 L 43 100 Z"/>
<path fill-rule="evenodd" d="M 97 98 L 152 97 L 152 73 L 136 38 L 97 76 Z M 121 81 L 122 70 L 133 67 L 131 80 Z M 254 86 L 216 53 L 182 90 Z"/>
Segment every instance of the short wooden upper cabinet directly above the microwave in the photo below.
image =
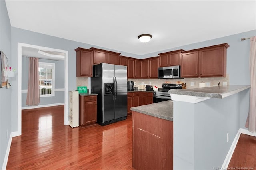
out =
<path fill-rule="evenodd" d="M 180 52 L 183 49 L 160 53 L 159 55 L 159 67 L 168 67 L 172 65 L 180 65 Z"/>

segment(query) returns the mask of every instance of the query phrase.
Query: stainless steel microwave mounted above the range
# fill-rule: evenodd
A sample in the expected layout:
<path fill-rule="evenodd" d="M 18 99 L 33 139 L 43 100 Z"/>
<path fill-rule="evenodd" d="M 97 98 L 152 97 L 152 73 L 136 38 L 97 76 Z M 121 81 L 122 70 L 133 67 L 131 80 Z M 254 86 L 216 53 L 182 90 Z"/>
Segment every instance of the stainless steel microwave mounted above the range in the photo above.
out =
<path fill-rule="evenodd" d="M 158 68 L 158 79 L 181 79 L 180 65 Z"/>

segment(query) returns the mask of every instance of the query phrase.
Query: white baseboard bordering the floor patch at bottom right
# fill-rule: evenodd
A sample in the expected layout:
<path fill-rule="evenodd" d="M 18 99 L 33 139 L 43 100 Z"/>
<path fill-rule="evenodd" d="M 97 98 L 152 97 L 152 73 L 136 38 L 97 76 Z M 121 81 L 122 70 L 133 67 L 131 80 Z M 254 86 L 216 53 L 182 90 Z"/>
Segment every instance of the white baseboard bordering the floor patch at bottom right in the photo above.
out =
<path fill-rule="evenodd" d="M 240 128 L 238 130 L 238 132 L 236 134 L 236 137 L 234 138 L 234 141 L 233 141 L 232 145 L 230 146 L 228 154 L 227 154 L 227 156 L 226 156 L 226 158 L 225 158 L 225 160 L 224 160 L 224 162 L 222 164 L 222 167 L 221 167 L 222 170 L 226 170 L 228 168 L 228 164 L 229 164 L 229 162 L 230 162 L 230 160 L 232 158 L 232 155 L 234 153 L 234 150 L 236 148 L 236 144 L 237 144 L 237 142 L 239 140 L 239 137 L 240 137 L 241 133 L 256 137 L 256 132 L 253 133 L 253 132 L 250 132 L 247 129 Z"/>

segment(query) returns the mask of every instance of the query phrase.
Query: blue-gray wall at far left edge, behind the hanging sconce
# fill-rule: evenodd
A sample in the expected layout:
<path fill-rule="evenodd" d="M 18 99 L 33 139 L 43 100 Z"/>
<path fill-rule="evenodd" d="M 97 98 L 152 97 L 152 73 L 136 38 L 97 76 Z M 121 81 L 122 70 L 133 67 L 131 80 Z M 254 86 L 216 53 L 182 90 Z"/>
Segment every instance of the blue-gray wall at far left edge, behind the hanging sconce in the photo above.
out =
<path fill-rule="evenodd" d="M 5 1 L 0 1 L 0 50 L 8 57 L 8 63 L 12 66 L 11 55 L 11 24 L 7 13 Z M 12 85 L 12 79 L 10 83 Z M 11 112 L 12 106 L 12 86 L 10 89 L 6 87 L 0 88 L 0 167 L 2 169 L 6 148 L 11 133 Z"/>

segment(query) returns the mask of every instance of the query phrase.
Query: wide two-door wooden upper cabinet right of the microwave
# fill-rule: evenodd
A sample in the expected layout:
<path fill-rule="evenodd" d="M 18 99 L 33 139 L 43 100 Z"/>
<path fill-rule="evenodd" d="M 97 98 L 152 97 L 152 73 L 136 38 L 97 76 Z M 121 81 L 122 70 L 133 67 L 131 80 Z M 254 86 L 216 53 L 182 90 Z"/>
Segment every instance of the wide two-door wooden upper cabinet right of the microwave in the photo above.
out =
<path fill-rule="evenodd" d="M 227 43 L 184 51 L 181 77 L 226 77 Z"/>

